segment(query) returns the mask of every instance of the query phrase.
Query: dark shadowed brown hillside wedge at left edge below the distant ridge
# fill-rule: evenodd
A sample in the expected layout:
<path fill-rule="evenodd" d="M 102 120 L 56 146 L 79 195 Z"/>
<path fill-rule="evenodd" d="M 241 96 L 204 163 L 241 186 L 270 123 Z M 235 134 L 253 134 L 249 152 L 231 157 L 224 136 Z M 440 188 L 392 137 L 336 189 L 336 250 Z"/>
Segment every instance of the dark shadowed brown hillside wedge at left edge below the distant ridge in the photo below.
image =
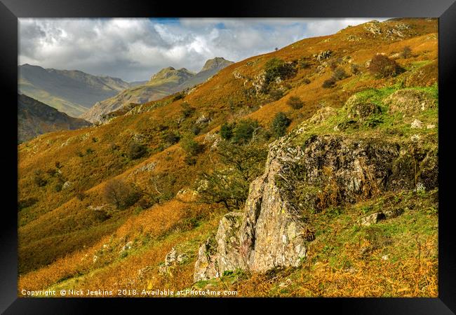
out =
<path fill-rule="evenodd" d="M 51 106 L 18 94 L 18 143 L 58 130 L 75 130 L 92 124 L 81 118 L 73 118 Z"/>

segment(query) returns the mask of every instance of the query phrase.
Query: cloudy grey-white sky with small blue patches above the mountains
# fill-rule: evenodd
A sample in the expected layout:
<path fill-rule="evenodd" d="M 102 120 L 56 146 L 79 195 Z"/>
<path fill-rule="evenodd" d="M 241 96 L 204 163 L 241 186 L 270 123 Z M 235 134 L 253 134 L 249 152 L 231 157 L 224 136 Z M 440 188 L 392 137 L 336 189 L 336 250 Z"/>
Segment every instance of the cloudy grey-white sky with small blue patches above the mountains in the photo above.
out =
<path fill-rule="evenodd" d="M 20 18 L 18 64 L 149 80 L 167 66 L 197 72 L 213 57 L 239 62 L 370 20 L 385 19 Z"/>

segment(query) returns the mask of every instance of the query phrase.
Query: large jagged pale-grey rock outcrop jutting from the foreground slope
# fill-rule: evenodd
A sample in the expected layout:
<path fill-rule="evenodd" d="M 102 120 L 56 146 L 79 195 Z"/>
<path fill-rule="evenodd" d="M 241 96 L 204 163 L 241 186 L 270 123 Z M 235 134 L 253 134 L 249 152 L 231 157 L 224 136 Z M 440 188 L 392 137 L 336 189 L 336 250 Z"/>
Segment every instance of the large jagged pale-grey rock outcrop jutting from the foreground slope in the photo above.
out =
<path fill-rule="evenodd" d="M 314 239 L 303 220 L 309 211 L 366 200 L 386 190 L 437 186 L 436 153 L 418 144 L 321 135 L 293 146 L 296 135 L 271 144 L 265 172 L 251 183 L 243 211 L 226 214 L 217 234 L 199 248 L 194 281 L 234 269 L 297 267 Z M 375 214 L 363 223 L 394 215 Z"/>

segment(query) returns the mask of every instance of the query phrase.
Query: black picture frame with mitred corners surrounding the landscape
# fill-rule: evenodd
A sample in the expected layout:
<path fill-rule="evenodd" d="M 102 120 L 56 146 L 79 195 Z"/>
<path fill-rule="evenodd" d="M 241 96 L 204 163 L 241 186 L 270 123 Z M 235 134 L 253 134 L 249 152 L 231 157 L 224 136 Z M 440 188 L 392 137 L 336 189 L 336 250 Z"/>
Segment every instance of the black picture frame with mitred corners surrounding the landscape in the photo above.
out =
<path fill-rule="evenodd" d="M 4 195 L 0 219 L 1 269 L 0 311 L 4 314 L 83 314 L 95 306 L 130 309 L 130 298 L 18 298 L 17 296 L 17 76 L 18 18 L 133 18 L 133 17 L 216 17 L 216 18 L 439 18 L 439 230 L 437 298 L 280 298 L 261 299 L 264 307 L 309 307 L 342 314 L 455 314 L 456 312 L 456 241 L 452 220 L 452 119 L 455 104 L 456 73 L 456 3 L 455 0 L 414 1 L 229 1 L 213 6 L 194 1 L 122 1 L 122 0 L 0 0 L 0 76 L 3 90 L 1 135 L 4 150 L 0 153 L 4 173 Z M 206 307 L 250 299 L 204 299 Z M 258 299 L 253 299 L 258 300 Z M 109 302 L 109 303 L 108 303 Z M 157 302 L 194 304 L 201 299 L 135 299 L 149 311 L 159 311 Z M 223 303 L 223 304 L 222 304 Z M 293 305 L 291 305 L 293 304 Z M 153 306 L 154 308 L 150 308 Z M 174 307 L 174 306 L 173 306 Z M 224 308 L 224 306 L 223 306 Z M 196 308 L 197 310 L 197 308 Z"/>

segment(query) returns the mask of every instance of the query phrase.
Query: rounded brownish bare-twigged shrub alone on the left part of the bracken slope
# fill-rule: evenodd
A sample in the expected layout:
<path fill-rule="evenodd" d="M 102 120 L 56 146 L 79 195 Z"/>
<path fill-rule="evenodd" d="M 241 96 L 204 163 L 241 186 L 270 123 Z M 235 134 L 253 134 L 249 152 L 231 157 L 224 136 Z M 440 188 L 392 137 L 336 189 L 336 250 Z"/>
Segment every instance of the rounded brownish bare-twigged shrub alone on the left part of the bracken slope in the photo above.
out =
<path fill-rule="evenodd" d="M 126 209 L 138 202 L 141 194 L 122 179 L 112 179 L 105 184 L 103 197 L 117 209 Z"/>

